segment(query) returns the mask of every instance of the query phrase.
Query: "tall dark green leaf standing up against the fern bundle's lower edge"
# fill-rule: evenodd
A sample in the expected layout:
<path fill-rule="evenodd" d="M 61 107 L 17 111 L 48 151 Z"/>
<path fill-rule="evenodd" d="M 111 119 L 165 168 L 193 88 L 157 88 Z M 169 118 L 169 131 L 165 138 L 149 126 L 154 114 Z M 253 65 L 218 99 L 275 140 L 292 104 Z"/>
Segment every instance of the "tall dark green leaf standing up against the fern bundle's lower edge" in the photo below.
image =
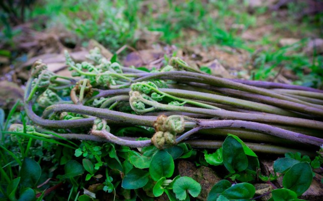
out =
<path fill-rule="evenodd" d="M 230 173 L 240 172 L 248 167 L 248 159 L 243 147 L 232 135 L 222 144 L 223 164 Z"/>

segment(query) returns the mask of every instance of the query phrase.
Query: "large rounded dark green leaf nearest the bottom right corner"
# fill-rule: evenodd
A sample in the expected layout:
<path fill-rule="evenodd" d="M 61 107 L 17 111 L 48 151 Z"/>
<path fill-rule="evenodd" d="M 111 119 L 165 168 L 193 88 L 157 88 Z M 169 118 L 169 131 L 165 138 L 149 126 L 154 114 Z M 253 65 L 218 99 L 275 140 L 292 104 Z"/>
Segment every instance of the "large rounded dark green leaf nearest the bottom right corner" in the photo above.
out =
<path fill-rule="evenodd" d="M 293 165 L 284 175 L 283 186 L 296 192 L 298 196 L 305 192 L 313 180 L 312 168 L 308 162 Z"/>

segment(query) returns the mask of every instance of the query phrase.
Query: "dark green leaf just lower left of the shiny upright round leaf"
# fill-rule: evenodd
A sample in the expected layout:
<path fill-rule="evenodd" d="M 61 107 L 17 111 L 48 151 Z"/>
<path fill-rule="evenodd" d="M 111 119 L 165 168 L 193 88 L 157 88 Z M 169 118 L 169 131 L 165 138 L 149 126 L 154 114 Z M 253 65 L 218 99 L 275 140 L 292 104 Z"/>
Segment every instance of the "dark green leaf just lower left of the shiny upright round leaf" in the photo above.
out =
<path fill-rule="evenodd" d="M 123 177 L 121 186 L 124 189 L 141 188 L 147 184 L 149 180 L 148 176 L 149 172 L 134 167 Z"/>

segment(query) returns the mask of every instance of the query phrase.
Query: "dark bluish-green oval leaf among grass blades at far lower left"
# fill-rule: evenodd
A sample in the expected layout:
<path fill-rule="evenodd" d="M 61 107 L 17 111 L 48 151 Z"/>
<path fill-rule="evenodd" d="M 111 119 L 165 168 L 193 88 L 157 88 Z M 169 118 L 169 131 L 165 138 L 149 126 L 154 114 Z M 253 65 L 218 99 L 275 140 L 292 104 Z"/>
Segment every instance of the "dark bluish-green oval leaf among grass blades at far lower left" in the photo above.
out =
<path fill-rule="evenodd" d="M 25 187 L 33 187 L 37 184 L 40 178 L 41 167 L 33 159 L 24 158 L 19 175 L 21 177 L 21 185 Z"/>

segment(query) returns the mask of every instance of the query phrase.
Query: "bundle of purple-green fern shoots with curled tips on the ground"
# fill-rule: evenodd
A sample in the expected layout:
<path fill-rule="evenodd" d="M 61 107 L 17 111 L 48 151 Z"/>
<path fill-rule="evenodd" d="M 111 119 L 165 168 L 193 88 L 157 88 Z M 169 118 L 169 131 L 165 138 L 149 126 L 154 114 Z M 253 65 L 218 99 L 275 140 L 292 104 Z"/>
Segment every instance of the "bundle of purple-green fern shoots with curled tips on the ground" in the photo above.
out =
<path fill-rule="evenodd" d="M 82 63 L 65 57 L 72 77 L 33 64 L 27 133 L 159 149 L 181 142 L 219 148 L 230 133 L 271 154 L 309 154 L 323 145 L 323 90 L 219 78 L 178 57 L 158 70 L 121 66 L 99 49 Z"/>

